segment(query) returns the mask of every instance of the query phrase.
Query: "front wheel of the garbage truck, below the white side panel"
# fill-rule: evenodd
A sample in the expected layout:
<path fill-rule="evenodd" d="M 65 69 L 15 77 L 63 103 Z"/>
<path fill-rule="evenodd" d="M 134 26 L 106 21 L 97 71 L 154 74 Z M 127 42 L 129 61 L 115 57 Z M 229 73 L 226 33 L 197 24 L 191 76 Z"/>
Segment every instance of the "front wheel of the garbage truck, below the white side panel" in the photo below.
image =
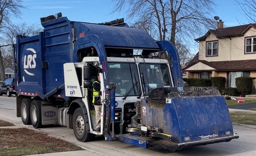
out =
<path fill-rule="evenodd" d="M 85 121 L 82 108 L 77 108 L 73 115 L 73 130 L 78 141 L 87 142 L 94 139 L 95 134 L 87 133 L 85 124 L 89 121 Z"/>

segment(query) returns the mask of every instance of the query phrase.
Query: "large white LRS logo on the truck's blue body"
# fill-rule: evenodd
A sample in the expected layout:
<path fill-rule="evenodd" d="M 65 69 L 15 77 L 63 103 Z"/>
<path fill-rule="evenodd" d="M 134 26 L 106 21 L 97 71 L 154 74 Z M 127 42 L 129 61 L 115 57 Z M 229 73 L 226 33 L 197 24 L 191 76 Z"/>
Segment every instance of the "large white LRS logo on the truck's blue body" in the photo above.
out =
<path fill-rule="evenodd" d="M 33 69 L 37 66 L 36 62 L 35 62 L 35 58 L 37 58 L 37 52 L 33 49 L 33 48 L 27 48 L 26 50 L 33 52 L 33 55 L 25 55 L 24 56 L 24 71 L 26 72 L 26 74 L 30 75 L 30 76 L 34 76 L 34 73 L 30 73 L 27 71 L 27 69 Z"/>

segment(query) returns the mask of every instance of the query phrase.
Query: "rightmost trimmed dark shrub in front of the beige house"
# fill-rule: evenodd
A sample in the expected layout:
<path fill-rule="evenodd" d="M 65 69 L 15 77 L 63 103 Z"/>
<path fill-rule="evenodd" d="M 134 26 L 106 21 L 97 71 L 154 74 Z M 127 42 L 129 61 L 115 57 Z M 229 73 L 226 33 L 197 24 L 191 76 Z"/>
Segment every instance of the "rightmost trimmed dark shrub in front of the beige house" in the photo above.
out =
<path fill-rule="evenodd" d="M 252 78 L 251 77 L 240 77 L 236 78 L 236 88 L 242 93 L 242 95 L 248 95 L 252 93 Z"/>

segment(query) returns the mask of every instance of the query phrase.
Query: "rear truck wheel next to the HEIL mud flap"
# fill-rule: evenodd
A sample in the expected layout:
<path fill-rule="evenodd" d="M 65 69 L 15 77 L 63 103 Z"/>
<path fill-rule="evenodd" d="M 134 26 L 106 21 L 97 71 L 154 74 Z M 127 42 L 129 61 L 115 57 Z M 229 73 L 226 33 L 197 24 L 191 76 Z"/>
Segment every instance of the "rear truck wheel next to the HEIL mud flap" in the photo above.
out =
<path fill-rule="evenodd" d="M 30 119 L 34 128 L 42 127 L 41 101 L 33 100 L 30 106 Z"/>

